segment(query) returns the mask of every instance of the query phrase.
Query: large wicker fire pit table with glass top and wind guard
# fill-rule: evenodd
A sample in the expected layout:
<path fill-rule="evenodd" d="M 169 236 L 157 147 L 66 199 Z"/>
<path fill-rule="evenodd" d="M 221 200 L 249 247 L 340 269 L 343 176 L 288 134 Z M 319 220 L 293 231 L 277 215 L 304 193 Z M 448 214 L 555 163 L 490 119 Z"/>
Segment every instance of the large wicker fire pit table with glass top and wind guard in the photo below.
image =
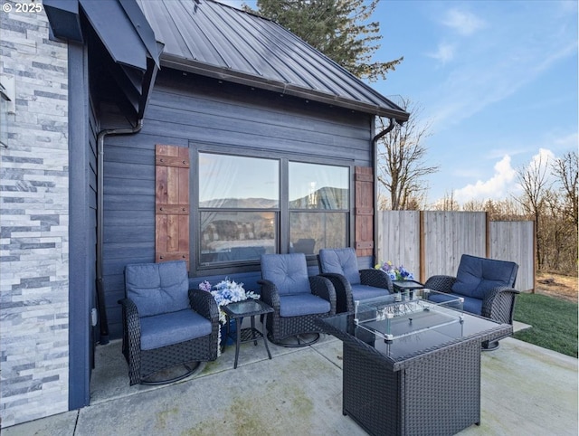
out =
<path fill-rule="evenodd" d="M 481 343 L 512 326 L 432 292 L 357 301 L 355 313 L 316 321 L 343 342 L 342 412 L 370 434 L 454 434 L 480 422 Z"/>

